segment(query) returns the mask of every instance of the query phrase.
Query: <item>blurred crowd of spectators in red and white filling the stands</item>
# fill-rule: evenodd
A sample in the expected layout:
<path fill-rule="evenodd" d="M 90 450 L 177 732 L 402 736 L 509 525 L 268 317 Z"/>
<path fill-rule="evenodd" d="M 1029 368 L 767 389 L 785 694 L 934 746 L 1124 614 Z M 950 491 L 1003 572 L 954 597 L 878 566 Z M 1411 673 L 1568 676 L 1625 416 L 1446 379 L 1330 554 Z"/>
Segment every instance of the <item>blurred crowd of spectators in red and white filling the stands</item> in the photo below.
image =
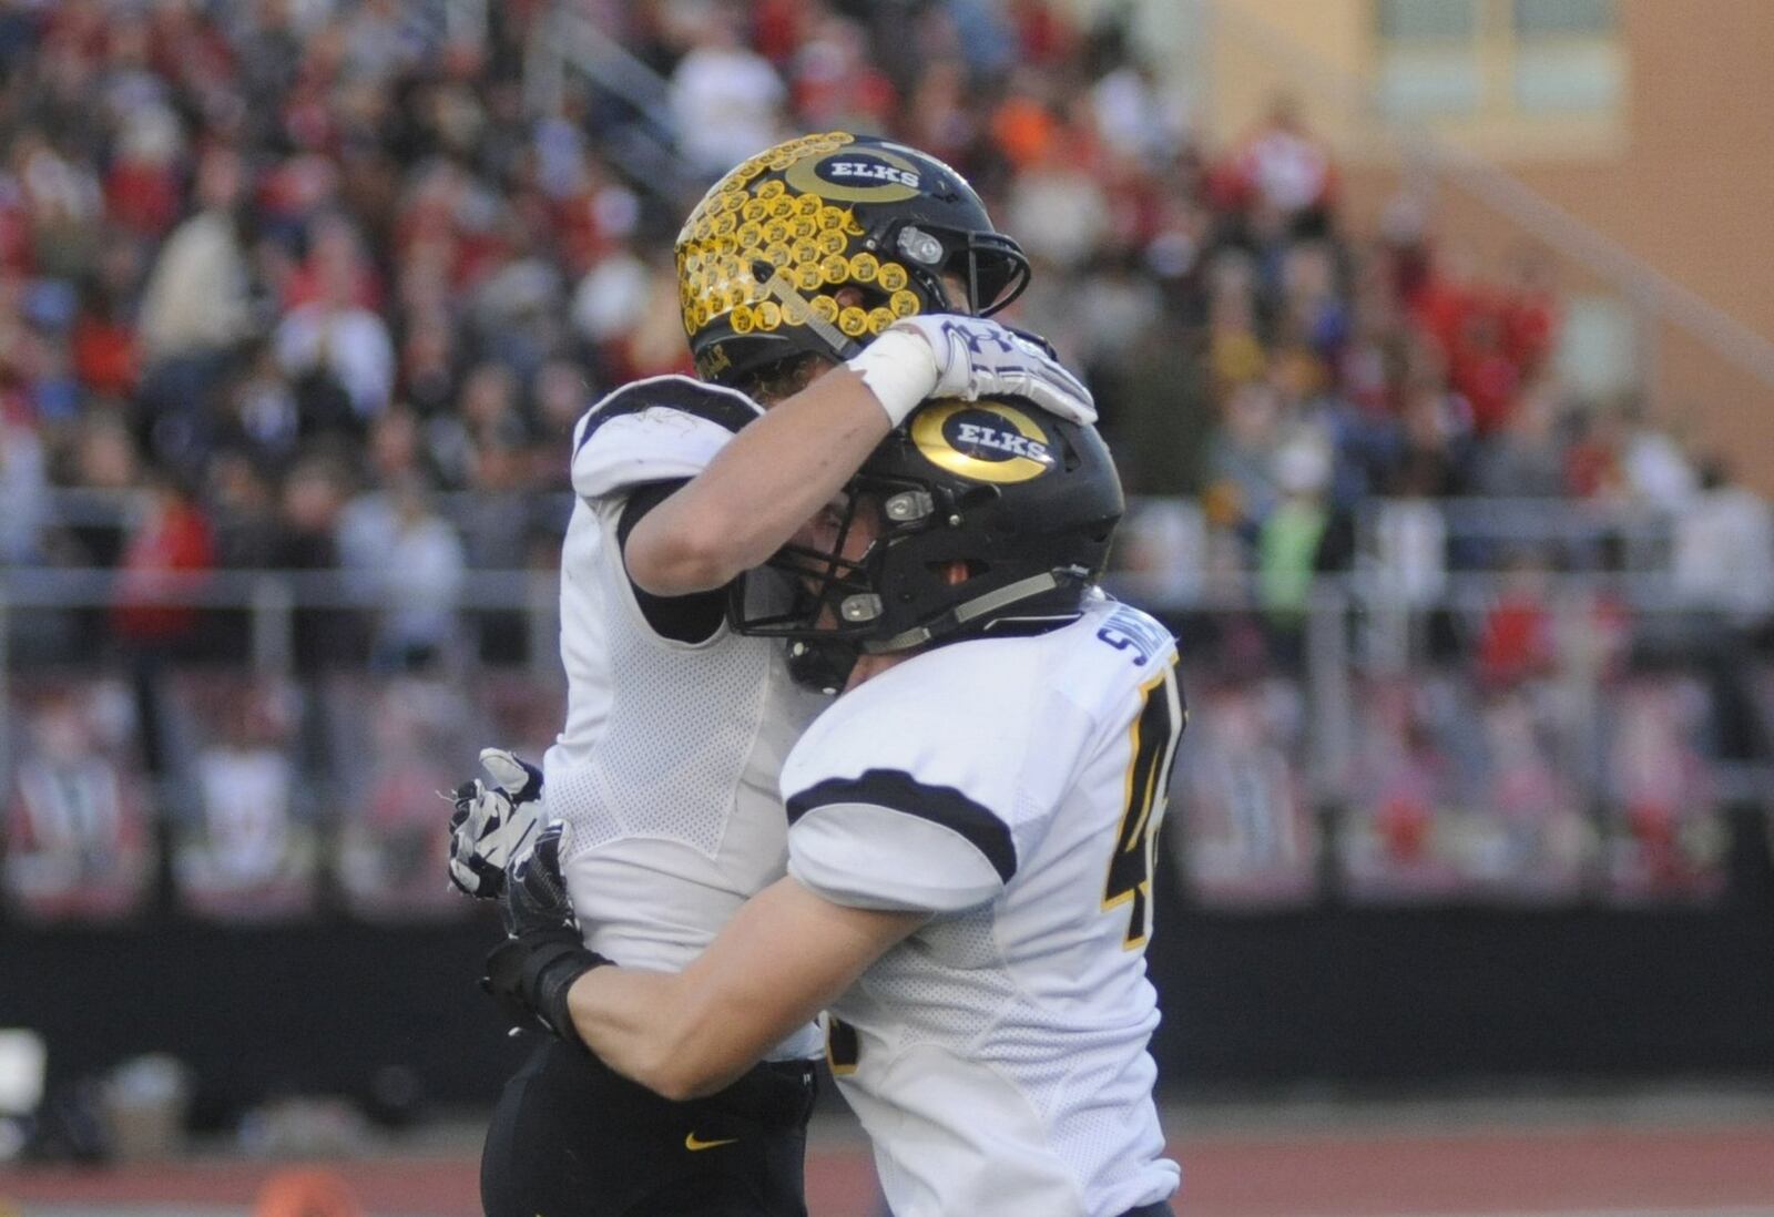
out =
<path fill-rule="evenodd" d="M 598 73 L 546 71 L 555 11 L 608 39 Z M 401 876 L 403 908 L 429 910 L 444 758 L 539 749 L 559 701 L 431 679 L 465 651 L 454 601 L 477 571 L 557 561 L 569 433 L 598 396 L 690 371 L 669 250 L 701 190 L 779 138 L 852 130 L 956 165 L 1029 252 L 1011 321 L 1087 374 L 1128 490 L 1185 507 L 1132 516 L 1121 564 L 1160 587 L 1166 566 L 1228 575 L 1229 603 L 1176 619 L 1205 708 L 1185 766 L 1203 891 L 1315 891 L 1306 791 L 1336 775 L 1307 781 L 1309 756 L 1352 758 L 1359 882 L 1568 894 L 1605 837 L 1577 809 L 1611 800 L 1629 844 L 1609 882 L 1712 891 L 1698 758 L 1765 747 L 1751 701 L 1774 722 L 1774 674 L 1747 688 L 1733 649 L 1774 605 L 1767 504 L 1644 403 L 1570 392 L 1533 248 L 1480 268 L 1409 195 L 1357 232 L 1299 103 L 1213 145 L 1119 7 L 1068 11 L 0 0 L 0 575 L 115 573 L 105 603 L 7 614 L 5 885 L 106 915 L 163 846 L 199 912 L 302 910 L 321 875 L 364 899 Z M 1554 612 L 1549 575 L 1629 568 L 1632 545 L 1524 545 L 1559 514 L 1535 507 L 1520 538 L 1462 550 L 1426 504 L 1471 497 L 1671 520 L 1659 564 L 1698 610 L 1707 688 L 1621 681 L 1621 601 Z M 1315 575 L 1362 562 L 1389 564 L 1410 628 L 1432 653 L 1451 639 L 1464 674 L 1357 687 L 1354 743 L 1318 742 L 1341 718 L 1265 676 L 1300 658 Z M 1506 571 L 1464 624 L 1437 608 L 1462 562 Z M 334 580 L 287 617 L 302 679 L 161 679 L 161 660 L 264 640 L 248 614 L 176 603 L 231 569 Z M 481 658 L 523 658 L 504 624 Z M 1345 642 L 1396 676 L 1391 626 L 1366 614 Z M 32 685 L 39 656 L 133 665 Z M 1561 672 L 1613 717 L 1550 695 Z M 1708 734 L 1708 704 L 1742 738 Z M 1570 756 L 1590 758 L 1575 777 Z"/>

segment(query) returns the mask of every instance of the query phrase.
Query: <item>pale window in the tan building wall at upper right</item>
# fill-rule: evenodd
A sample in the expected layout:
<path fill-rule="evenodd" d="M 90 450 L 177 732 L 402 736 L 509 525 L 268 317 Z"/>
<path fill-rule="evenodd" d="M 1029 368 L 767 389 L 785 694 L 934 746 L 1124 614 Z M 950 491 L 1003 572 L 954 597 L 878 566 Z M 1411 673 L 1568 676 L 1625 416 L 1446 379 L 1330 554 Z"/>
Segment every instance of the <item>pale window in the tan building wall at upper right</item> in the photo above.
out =
<path fill-rule="evenodd" d="M 1396 117 L 1609 115 L 1625 94 L 1616 0 L 1375 0 Z"/>

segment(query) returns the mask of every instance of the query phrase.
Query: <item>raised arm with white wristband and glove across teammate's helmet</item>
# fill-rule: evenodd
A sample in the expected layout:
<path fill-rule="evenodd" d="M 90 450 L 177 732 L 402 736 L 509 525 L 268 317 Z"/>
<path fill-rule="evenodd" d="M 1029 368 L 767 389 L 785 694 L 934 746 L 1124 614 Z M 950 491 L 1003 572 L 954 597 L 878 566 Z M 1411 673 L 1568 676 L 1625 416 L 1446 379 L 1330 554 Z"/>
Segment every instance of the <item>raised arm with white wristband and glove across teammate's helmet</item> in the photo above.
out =
<path fill-rule="evenodd" d="M 655 596 L 711 591 L 761 564 L 926 397 L 1017 396 L 1095 422 L 1089 390 L 1041 346 L 981 318 L 905 318 L 848 364 L 747 424 L 635 525 L 628 577 Z"/>

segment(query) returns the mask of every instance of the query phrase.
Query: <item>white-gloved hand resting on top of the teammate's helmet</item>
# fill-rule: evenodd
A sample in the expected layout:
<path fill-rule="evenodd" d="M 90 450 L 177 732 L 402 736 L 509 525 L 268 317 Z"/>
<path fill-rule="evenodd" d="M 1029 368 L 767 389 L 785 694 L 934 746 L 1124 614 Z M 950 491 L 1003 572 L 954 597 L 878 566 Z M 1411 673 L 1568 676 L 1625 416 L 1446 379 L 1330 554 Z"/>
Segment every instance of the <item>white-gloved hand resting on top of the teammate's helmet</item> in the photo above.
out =
<path fill-rule="evenodd" d="M 1052 348 L 988 318 L 926 314 L 901 318 L 887 334 L 915 334 L 937 358 L 930 397 L 1025 397 L 1048 413 L 1089 426 L 1096 422 L 1091 390 L 1068 373 Z"/>

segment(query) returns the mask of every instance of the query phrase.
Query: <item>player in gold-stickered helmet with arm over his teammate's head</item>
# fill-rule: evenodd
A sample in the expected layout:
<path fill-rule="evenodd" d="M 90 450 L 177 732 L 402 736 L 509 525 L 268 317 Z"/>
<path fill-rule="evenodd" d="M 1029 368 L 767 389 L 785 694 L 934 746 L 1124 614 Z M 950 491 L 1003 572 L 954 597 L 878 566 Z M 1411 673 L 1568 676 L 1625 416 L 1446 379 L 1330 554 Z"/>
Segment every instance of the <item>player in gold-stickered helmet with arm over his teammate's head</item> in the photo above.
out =
<path fill-rule="evenodd" d="M 541 770 L 483 754 L 451 875 L 495 896 L 538 816 L 571 825 L 584 944 L 690 963 L 782 875 L 777 777 L 818 708 L 781 646 L 731 632 L 726 585 L 770 557 L 928 396 L 1025 394 L 1091 419 L 1045 349 L 983 319 L 1029 266 L 972 188 L 844 133 L 747 160 L 678 238 L 701 380 L 619 389 L 573 436 L 561 561 L 566 726 Z M 979 316 L 967 316 L 979 314 Z M 483 1153 L 493 1217 L 802 1213 L 811 1011 L 695 1102 L 553 1040 L 506 1087 Z"/>

